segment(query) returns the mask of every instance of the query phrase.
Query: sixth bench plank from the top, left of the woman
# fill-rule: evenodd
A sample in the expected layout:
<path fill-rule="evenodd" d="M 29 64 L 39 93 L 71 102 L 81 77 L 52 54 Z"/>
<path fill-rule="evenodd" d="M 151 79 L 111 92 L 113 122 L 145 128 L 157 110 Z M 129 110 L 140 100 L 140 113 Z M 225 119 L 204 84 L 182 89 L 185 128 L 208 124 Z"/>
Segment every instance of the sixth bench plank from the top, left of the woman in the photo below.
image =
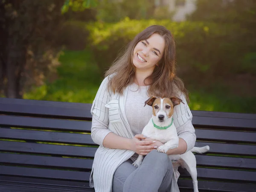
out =
<path fill-rule="evenodd" d="M 78 180 L 88 182 L 90 172 L 65 171 L 55 169 L 37 169 L 28 167 L 0 166 L 1 175 L 15 175 L 20 177 L 42 177 L 62 180 Z"/>

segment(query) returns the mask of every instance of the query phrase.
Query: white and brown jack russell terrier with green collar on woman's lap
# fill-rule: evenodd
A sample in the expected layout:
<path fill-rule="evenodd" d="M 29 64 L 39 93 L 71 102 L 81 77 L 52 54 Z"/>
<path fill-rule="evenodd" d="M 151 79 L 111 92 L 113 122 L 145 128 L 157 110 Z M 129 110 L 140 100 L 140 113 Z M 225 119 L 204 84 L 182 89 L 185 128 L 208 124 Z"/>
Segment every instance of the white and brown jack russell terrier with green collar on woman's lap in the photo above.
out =
<path fill-rule="evenodd" d="M 180 102 L 182 102 L 182 100 L 177 97 L 156 98 L 154 96 L 145 101 L 145 105 L 152 106 L 153 115 L 148 124 L 143 128 L 142 134 L 147 138 L 165 143 L 157 148 L 157 151 L 159 152 L 166 153 L 169 149 L 178 147 L 179 137 L 175 125 L 173 124 L 172 115 L 174 107 L 179 105 Z M 184 154 L 169 155 L 169 158 L 172 161 L 176 181 L 180 176 L 178 167 L 182 166 L 183 168 L 186 168 L 192 177 L 194 192 L 198 192 L 196 159 L 192 152 L 205 153 L 207 151 L 209 151 L 208 145 L 204 147 L 194 147 Z M 143 155 L 139 155 L 137 160 L 133 163 L 133 166 L 140 166 L 142 161 Z"/>

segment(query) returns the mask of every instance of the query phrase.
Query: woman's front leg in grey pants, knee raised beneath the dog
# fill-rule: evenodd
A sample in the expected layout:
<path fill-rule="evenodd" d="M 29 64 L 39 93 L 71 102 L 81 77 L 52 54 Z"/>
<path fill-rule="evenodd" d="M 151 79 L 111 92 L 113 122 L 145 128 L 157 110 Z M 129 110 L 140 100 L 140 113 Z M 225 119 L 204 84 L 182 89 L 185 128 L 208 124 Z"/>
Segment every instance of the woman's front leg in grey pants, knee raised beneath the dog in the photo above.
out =
<path fill-rule="evenodd" d="M 171 188 L 172 170 L 168 155 L 153 150 L 127 177 L 123 192 L 166 192 Z"/>

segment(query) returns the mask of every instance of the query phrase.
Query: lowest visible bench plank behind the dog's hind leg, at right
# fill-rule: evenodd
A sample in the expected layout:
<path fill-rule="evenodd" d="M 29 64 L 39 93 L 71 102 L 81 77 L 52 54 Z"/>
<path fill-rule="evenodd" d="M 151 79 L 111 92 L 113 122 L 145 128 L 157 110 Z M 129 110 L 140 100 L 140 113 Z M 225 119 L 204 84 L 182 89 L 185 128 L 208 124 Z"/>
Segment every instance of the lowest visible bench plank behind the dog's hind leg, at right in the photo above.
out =
<path fill-rule="evenodd" d="M 185 189 L 193 189 L 192 180 L 179 179 L 177 183 L 181 192 Z M 256 192 L 256 185 L 198 180 L 198 190 L 201 192 L 206 189 L 212 192 Z"/>

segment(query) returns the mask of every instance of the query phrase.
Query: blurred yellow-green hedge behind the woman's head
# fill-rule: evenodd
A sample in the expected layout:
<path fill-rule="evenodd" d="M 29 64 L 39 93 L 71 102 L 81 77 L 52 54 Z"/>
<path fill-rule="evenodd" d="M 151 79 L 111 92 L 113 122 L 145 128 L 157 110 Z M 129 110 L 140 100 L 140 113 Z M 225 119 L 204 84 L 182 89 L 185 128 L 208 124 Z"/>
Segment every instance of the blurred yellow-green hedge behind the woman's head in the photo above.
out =
<path fill-rule="evenodd" d="M 118 23 L 90 23 L 89 41 L 101 74 L 111 65 L 118 52 L 135 35 L 150 25 L 163 25 L 175 36 L 178 72 L 182 76 L 193 72 L 194 77 L 225 76 L 244 70 L 242 42 L 237 42 L 244 30 L 236 25 L 206 22 L 171 22 L 170 20 L 129 20 Z M 251 62 L 247 62 L 247 65 Z M 250 68 L 250 67 L 247 67 Z"/>

